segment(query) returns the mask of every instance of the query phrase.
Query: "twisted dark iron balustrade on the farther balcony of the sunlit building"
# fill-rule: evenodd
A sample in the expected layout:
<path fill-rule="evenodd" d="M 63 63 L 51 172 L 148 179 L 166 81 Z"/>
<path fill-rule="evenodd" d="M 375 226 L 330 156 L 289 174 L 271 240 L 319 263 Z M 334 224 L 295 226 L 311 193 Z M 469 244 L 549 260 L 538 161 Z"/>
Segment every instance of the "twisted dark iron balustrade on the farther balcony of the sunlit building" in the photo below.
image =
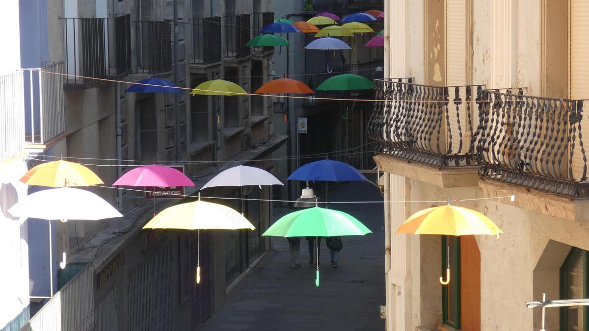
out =
<path fill-rule="evenodd" d="M 475 92 L 481 85 L 435 87 L 412 78 L 374 80 L 375 109 L 368 134 L 376 153 L 436 167 L 477 164 L 471 137 L 477 128 Z"/>

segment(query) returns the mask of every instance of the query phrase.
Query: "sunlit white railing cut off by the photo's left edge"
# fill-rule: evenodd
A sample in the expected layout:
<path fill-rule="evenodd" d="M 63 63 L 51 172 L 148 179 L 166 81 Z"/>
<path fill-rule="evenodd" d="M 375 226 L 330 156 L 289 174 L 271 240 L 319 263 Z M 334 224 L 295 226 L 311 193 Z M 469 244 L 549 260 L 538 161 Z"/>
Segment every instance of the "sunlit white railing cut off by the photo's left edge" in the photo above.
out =
<path fill-rule="evenodd" d="M 24 151 L 25 104 L 23 71 L 0 75 L 0 160 Z"/>

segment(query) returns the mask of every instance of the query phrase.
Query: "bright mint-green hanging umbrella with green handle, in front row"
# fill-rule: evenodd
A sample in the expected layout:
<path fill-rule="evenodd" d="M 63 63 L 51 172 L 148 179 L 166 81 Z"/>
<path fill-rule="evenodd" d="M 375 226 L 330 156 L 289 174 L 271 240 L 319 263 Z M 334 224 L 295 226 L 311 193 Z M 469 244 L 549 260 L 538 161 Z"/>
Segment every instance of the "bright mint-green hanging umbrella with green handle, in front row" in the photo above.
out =
<path fill-rule="evenodd" d="M 326 208 L 306 208 L 281 217 L 262 236 L 317 237 L 363 236 L 372 233 L 358 219 L 343 211 Z M 318 252 L 317 247 L 315 251 Z M 315 286 L 319 286 L 319 253 L 316 253 Z"/>

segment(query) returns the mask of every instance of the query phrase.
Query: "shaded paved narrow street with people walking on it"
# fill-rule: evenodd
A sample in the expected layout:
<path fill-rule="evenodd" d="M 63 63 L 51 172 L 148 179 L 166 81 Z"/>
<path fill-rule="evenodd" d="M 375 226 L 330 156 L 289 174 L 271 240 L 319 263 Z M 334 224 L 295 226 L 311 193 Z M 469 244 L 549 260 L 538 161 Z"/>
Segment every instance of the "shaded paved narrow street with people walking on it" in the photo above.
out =
<path fill-rule="evenodd" d="M 382 196 L 369 183 L 349 182 L 330 187 L 329 200 L 382 201 Z M 226 304 L 201 330 L 383 330 L 385 322 L 379 315 L 379 305 L 385 302 L 382 204 L 329 207 L 355 216 L 373 233 L 342 237 L 337 269 L 330 266 L 329 250 L 322 240 L 319 287 L 315 287 L 315 265 L 309 265 L 307 241 L 301 240 L 302 266 L 291 269 L 287 240 L 273 237 L 273 250 L 229 293 Z M 274 220 L 291 211 L 274 208 Z"/>

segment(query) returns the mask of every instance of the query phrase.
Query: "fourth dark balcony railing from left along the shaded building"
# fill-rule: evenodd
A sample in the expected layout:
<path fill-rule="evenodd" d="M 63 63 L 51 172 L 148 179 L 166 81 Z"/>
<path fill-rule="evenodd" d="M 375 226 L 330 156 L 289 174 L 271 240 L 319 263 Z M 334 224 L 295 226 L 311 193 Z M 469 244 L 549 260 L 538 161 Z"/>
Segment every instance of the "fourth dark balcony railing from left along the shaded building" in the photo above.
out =
<path fill-rule="evenodd" d="M 225 25 L 225 56 L 243 58 L 250 55 L 250 14 L 223 16 Z"/>

